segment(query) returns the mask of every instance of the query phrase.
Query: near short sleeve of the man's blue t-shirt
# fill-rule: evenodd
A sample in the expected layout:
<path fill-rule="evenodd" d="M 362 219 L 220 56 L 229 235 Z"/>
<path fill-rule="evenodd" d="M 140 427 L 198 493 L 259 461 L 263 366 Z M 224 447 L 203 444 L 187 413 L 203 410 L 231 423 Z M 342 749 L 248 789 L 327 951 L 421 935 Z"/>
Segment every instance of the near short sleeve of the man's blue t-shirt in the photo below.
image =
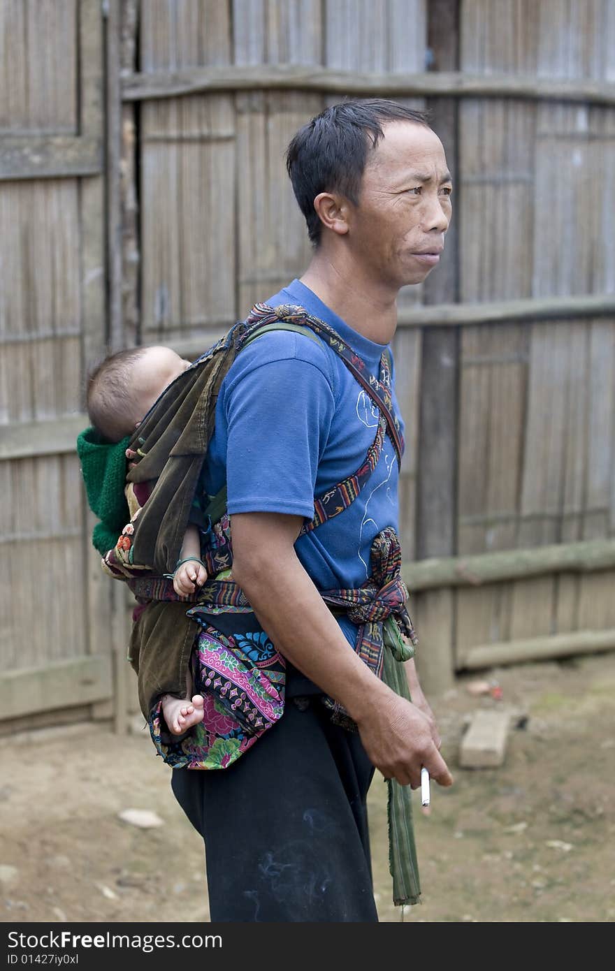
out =
<path fill-rule="evenodd" d="M 241 373 L 225 400 L 228 513 L 312 519 L 333 411 L 329 379 L 309 360 L 269 360 Z"/>

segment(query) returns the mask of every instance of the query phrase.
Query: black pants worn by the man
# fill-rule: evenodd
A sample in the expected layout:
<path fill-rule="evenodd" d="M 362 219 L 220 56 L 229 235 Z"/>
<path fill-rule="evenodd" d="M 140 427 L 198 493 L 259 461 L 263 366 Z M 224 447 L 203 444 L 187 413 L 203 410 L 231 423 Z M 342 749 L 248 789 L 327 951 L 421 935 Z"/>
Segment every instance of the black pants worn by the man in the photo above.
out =
<path fill-rule="evenodd" d="M 316 696 L 288 699 L 229 769 L 175 769 L 173 792 L 205 840 L 212 921 L 377 921 L 372 775 L 359 735 Z"/>

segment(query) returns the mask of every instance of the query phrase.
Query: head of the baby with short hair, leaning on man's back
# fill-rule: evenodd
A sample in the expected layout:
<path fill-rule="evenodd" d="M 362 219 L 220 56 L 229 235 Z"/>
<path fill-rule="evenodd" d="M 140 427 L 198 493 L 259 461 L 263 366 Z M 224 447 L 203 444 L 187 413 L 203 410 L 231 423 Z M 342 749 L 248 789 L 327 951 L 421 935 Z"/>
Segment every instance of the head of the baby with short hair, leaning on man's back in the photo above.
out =
<path fill-rule="evenodd" d="M 189 366 L 163 347 L 132 348 L 105 357 L 87 379 L 89 420 L 108 441 L 120 442 Z"/>

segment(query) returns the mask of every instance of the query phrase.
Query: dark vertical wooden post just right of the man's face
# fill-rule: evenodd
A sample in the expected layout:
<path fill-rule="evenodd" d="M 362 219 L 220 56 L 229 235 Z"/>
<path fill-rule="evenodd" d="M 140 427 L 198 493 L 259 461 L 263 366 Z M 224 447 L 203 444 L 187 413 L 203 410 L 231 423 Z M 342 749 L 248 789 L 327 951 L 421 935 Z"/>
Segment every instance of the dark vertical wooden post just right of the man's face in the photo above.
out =
<path fill-rule="evenodd" d="M 459 0 L 428 4 L 427 44 L 436 71 L 458 68 Z M 457 101 L 427 99 L 430 123 L 440 137 L 453 180 L 457 171 Z M 442 266 L 427 277 L 426 304 L 456 303 L 458 235 L 455 220 L 446 236 Z M 421 414 L 417 480 L 416 558 L 452 556 L 456 552 L 456 479 L 459 330 L 429 327 L 423 334 Z M 433 590 L 421 596 L 426 625 L 417 655 L 424 687 L 440 693 L 453 685 L 455 593 Z"/>

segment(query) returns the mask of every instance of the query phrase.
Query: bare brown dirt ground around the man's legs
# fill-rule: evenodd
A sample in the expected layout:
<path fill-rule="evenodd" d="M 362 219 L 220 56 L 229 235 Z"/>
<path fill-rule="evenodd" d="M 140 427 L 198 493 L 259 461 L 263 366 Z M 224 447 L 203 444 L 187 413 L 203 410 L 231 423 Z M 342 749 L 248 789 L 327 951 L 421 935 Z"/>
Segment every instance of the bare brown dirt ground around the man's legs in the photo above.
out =
<path fill-rule="evenodd" d="M 501 688 L 474 696 L 462 678 L 432 698 L 455 776 L 414 795 L 424 902 L 405 921 L 612 921 L 615 917 L 615 654 L 481 673 Z M 461 769 L 476 709 L 525 713 L 504 765 Z M 207 921 L 204 854 L 145 732 L 108 726 L 21 732 L 0 750 L 2 921 Z M 370 801 L 381 921 L 399 921 L 388 871 L 386 789 Z M 120 820 L 154 811 L 164 825 Z M 610 848 L 610 849 L 609 849 Z"/>

